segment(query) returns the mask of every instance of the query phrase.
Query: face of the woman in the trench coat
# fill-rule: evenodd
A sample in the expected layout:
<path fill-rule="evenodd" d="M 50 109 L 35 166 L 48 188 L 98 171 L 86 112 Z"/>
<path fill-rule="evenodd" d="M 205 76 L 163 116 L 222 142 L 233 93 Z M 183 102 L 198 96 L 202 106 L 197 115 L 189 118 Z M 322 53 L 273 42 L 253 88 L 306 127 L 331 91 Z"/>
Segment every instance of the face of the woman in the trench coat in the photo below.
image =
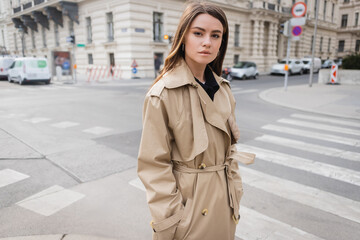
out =
<path fill-rule="evenodd" d="M 223 35 L 221 22 L 209 14 L 200 14 L 185 35 L 185 61 L 188 64 L 208 64 L 219 52 Z"/>

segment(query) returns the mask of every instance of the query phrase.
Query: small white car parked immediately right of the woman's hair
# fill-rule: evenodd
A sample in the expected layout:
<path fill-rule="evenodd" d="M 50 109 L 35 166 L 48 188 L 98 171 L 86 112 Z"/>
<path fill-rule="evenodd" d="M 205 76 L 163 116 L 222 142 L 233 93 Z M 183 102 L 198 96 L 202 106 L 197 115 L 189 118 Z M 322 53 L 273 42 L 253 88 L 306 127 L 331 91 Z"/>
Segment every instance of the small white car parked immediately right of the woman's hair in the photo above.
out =
<path fill-rule="evenodd" d="M 227 74 L 226 74 L 227 72 Z M 236 63 L 232 68 L 225 68 L 223 73 L 226 75 L 225 78 L 232 80 L 234 78 L 246 79 L 254 78 L 259 75 L 256 64 L 253 62 L 241 61 Z"/>

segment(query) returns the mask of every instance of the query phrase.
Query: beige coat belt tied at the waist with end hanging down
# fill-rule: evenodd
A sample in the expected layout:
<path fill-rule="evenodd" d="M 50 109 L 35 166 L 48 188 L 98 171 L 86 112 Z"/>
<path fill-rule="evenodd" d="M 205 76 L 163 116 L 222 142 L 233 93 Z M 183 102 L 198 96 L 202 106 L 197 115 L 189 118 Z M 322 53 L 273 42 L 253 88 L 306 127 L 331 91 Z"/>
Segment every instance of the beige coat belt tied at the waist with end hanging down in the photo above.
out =
<path fill-rule="evenodd" d="M 227 192 L 229 196 L 229 206 L 233 211 L 233 220 L 236 224 L 238 224 L 240 219 L 239 214 L 239 206 L 238 206 L 238 197 L 236 196 L 236 187 L 234 184 L 234 180 L 232 178 L 231 174 L 231 159 L 227 159 L 224 164 L 222 165 L 215 165 L 215 166 L 209 166 L 201 169 L 196 168 L 189 168 L 180 164 L 177 164 L 174 162 L 173 169 L 177 172 L 181 173 L 209 173 L 209 172 L 219 172 L 222 170 L 225 170 L 226 173 L 226 180 L 227 180 Z"/>

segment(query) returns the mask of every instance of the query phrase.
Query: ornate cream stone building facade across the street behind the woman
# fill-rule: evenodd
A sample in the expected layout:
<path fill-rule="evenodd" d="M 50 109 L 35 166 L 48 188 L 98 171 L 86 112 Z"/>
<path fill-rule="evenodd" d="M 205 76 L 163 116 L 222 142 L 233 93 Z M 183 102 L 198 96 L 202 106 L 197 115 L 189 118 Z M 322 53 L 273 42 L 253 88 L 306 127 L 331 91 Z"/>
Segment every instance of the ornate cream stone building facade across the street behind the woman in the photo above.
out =
<path fill-rule="evenodd" d="M 346 1 L 346 0 L 345 0 Z M 69 59 L 85 73 L 90 66 L 117 66 L 123 78 L 154 76 L 154 55 L 162 61 L 171 43 L 185 0 L 3 0 L 0 1 L 1 45 L 13 55 L 47 57 L 53 66 Z M 295 0 L 211 0 L 226 13 L 229 46 L 224 66 L 241 60 L 254 61 L 260 72 L 286 56 L 287 38 L 280 24 L 291 18 Z M 291 42 L 290 57 L 311 55 L 316 0 L 307 4 L 306 25 L 300 41 Z M 359 39 L 359 0 L 321 0 L 315 56 L 343 57 L 356 49 Z M 350 7 L 349 7 L 350 6 Z M 354 8 L 355 7 L 355 8 Z M 348 12 L 348 13 L 346 13 Z M 339 16 L 348 14 L 352 25 L 342 26 Z M 353 24 L 354 23 L 354 24 Z M 355 26 L 355 27 L 353 27 Z M 69 36 L 78 47 L 73 49 Z M 339 38 L 340 37 L 340 38 Z M 344 51 L 340 51 L 344 41 Z M 360 43 L 359 43 L 360 44 Z M 359 47 L 358 47 L 359 48 Z M 357 48 L 357 49 L 358 49 Z M 74 53 L 74 54 L 73 54 Z"/>

